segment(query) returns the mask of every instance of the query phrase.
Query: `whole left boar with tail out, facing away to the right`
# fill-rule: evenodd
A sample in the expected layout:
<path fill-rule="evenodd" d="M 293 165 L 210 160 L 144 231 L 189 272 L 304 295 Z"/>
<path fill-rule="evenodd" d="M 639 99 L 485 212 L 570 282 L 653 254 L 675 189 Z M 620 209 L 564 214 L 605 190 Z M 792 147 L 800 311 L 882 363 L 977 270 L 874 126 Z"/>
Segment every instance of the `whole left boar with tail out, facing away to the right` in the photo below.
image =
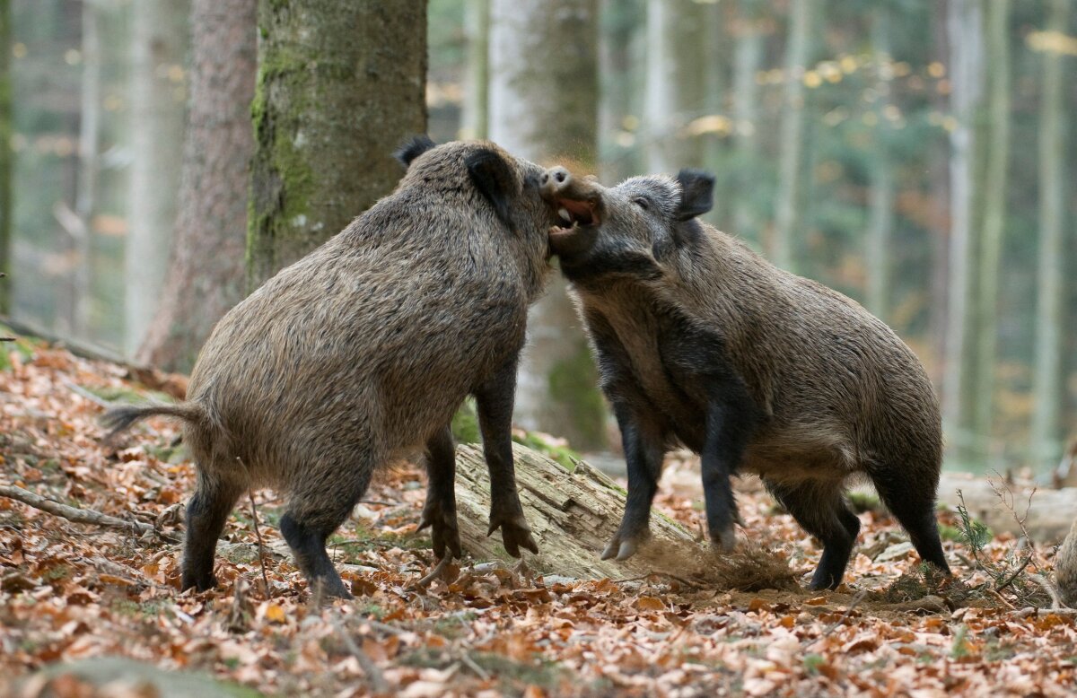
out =
<path fill-rule="evenodd" d="M 202 347 L 187 401 L 121 407 L 184 420 L 197 489 L 183 587 L 215 584 L 225 519 L 248 488 L 288 493 L 281 533 L 313 587 L 347 597 L 324 542 L 376 467 L 426 452 L 422 526 L 460 556 L 449 423 L 473 394 L 490 466 L 491 532 L 536 550 L 513 473 L 510 417 L 527 310 L 549 269 L 544 170 L 492 143 L 397 151 L 396 190 L 232 309 Z"/>

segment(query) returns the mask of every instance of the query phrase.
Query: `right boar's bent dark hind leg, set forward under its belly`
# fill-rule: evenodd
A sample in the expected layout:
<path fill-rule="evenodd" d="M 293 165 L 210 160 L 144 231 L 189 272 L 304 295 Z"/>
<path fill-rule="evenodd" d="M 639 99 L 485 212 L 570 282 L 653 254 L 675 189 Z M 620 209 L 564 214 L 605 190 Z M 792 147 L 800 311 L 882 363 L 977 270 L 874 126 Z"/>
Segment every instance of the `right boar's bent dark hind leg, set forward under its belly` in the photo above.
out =
<path fill-rule="evenodd" d="M 861 531 L 861 520 L 849 511 L 840 485 L 830 480 L 795 485 L 764 481 L 797 524 L 823 543 L 823 557 L 809 588 L 838 588 Z"/>

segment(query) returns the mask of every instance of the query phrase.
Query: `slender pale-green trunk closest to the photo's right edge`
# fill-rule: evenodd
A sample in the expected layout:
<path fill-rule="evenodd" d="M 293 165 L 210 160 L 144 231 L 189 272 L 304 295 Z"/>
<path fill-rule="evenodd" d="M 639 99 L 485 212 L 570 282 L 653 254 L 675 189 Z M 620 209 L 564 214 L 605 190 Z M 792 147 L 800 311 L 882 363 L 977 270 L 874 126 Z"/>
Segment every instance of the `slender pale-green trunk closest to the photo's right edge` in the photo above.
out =
<path fill-rule="evenodd" d="M 1051 0 L 1049 31 L 1064 32 L 1069 0 Z M 1062 331 L 1065 327 L 1066 138 L 1063 124 L 1063 72 L 1059 53 L 1044 54 L 1039 111 L 1039 269 L 1036 297 L 1036 363 L 1033 382 L 1032 455 L 1039 472 L 1062 455 L 1061 407 L 1065 390 Z M 1072 533 L 1074 541 L 1077 534 Z M 1073 547 L 1073 546 L 1072 546 Z"/>

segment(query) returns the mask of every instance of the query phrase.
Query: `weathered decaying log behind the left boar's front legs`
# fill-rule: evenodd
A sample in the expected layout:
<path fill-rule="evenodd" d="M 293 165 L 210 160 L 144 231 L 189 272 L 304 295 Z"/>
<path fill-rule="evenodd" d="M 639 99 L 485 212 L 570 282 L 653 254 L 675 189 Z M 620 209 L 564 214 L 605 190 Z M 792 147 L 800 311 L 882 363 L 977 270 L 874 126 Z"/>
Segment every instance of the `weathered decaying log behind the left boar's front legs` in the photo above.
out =
<path fill-rule="evenodd" d="M 513 444 L 513 453 L 523 513 L 538 544 L 538 555 L 524 554 L 531 569 L 575 578 L 614 580 L 667 571 L 648 564 L 648 546 L 624 562 L 599 559 L 625 512 L 625 492 L 613 480 L 584 462 L 569 472 L 519 444 Z M 457 509 L 460 540 L 466 552 L 480 560 L 513 560 L 501 544 L 500 531 L 486 535 L 490 478 L 477 446 L 457 449 Z M 651 516 L 651 532 L 649 545 L 694 540 L 688 531 L 657 512 Z"/>

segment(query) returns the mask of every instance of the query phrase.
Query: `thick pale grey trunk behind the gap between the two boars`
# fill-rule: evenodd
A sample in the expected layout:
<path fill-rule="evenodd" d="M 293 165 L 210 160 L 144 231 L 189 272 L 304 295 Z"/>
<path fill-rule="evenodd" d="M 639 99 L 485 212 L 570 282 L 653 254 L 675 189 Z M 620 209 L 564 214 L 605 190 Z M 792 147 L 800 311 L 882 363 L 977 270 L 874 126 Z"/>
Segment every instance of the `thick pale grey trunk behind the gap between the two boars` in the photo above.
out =
<path fill-rule="evenodd" d="M 493 0 L 490 138 L 537 163 L 593 171 L 598 0 Z M 598 374 L 564 280 L 532 307 L 516 417 L 579 449 L 605 445 Z"/>

